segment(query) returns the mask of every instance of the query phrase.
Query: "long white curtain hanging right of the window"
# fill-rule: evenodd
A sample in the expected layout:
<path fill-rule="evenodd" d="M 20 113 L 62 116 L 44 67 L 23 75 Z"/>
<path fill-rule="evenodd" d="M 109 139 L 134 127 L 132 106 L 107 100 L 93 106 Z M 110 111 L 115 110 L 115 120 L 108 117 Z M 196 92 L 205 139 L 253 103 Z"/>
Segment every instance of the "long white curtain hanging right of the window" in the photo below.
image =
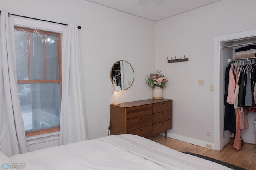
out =
<path fill-rule="evenodd" d="M 60 145 L 87 139 L 78 28 L 63 33 Z"/>

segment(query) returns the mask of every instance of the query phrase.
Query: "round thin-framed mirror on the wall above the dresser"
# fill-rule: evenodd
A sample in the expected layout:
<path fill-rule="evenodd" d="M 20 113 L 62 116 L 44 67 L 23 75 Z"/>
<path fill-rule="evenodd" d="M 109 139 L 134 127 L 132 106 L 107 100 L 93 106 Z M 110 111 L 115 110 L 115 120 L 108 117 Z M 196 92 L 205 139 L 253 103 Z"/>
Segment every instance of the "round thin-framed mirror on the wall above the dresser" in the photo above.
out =
<path fill-rule="evenodd" d="M 130 63 L 124 60 L 117 61 L 110 70 L 110 80 L 121 90 L 126 90 L 132 86 L 134 71 Z"/>

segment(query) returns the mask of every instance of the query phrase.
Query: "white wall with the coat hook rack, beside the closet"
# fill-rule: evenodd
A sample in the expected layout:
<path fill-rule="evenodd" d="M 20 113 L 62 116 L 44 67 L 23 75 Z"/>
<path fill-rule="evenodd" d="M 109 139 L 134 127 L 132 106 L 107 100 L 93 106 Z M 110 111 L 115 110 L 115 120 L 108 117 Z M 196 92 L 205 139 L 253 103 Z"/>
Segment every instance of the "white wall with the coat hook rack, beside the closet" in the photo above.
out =
<path fill-rule="evenodd" d="M 173 99 L 169 137 L 204 146 L 214 143 L 214 37 L 255 29 L 255 6 L 255 0 L 224 0 L 156 23 L 156 68 L 169 79 L 164 97 Z M 184 55 L 188 62 L 167 63 L 166 57 Z M 204 86 L 198 86 L 199 79 Z"/>

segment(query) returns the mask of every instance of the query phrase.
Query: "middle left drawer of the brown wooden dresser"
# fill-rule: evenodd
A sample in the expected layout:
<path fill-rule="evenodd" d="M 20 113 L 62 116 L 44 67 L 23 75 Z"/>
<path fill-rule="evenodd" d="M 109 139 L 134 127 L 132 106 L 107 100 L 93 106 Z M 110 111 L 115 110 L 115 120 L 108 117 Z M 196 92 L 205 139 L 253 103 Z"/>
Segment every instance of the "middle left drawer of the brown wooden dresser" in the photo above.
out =
<path fill-rule="evenodd" d="M 152 125 L 152 114 L 127 120 L 127 131 Z"/>

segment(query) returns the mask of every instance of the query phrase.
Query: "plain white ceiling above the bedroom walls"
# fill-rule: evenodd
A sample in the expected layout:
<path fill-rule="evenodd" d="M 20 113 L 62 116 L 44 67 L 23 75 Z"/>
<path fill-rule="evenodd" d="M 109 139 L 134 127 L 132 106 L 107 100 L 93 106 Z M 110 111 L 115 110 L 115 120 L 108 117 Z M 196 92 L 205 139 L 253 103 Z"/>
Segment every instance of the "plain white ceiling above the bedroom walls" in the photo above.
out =
<path fill-rule="evenodd" d="M 86 0 L 152 21 L 162 20 L 183 12 L 222 0 Z"/>

